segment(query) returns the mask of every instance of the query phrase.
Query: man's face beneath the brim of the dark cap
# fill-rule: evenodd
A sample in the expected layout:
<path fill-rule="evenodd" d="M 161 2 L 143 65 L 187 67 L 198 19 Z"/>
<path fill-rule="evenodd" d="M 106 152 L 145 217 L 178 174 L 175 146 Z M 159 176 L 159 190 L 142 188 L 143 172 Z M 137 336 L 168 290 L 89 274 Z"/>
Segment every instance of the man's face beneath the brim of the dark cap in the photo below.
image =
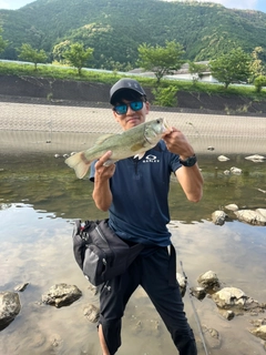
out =
<path fill-rule="evenodd" d="M 120 105 L 125 104 L 127 109 L 126 112 L 119 114 L 117 112 L 120 110 L 117 110 L 117 112 L 113 110 L 113 115 L 115 118 L 115 121 L 120 123 L 120 125 L 124 131 L 132 129 L 133 126 L 141 124 L 145 121 L 146 114 L 149 113 L 149 110 L 150 110 L 150 103 L 143 102 L 142 108 L 140 110 L 136 110 L 139 109 L 140 101 L 141 100 L 134 100 L 134 101 L 121 100 Z"/>

